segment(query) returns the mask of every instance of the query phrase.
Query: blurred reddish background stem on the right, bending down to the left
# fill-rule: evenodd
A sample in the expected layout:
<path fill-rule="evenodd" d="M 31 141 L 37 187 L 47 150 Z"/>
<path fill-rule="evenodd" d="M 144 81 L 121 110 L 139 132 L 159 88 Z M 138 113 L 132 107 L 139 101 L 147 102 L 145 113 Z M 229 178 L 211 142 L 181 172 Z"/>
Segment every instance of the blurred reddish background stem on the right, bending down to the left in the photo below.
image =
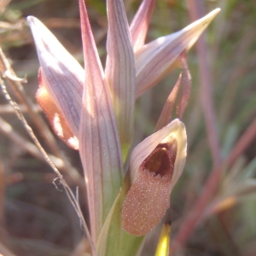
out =
<path fill-rule="evenodd" d="M 203 15 L 203 3 L 195 2 L 195 0 L 187 0 L 189 12 L 192 20 L 198 19 Z M 197 3 L 197 4 L 196 4 Z M 177 232 L 177 236 L 172 242 L 171 255 L 178 247 L 183 245 L 189 238 L 189 235 L 195 230 L 196 225 L 201 220 L 203 212 L 207 207 L 208 201 L 218 189 L 218 184 L 221 178 L 222 170 L 225 161 L 221 162 L 220 149 L 218 144 L 218 135 L 216 130 L 216 118 L 212 104 L 212 78 L 210 68 L 207 63 L 207 44 L 204 38 L 199 38 L 196 44 L 196 49 L 199 57 L 199 70 L 201 79 L 201 104 L 207 125 L 207 135 L 212 152 L 213 169 L 210 177 L 207 179 L 201 197 L 196 201 L 195 207 L 189 212 L 187 218 L 184 219 L 181 229 Z"/>

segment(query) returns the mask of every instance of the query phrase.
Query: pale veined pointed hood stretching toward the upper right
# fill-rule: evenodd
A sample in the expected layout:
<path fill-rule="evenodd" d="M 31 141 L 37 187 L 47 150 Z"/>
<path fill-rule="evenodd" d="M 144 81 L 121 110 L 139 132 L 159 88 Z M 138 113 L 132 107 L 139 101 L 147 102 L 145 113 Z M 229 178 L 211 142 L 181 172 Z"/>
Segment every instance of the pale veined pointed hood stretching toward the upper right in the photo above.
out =
<path fill-rule="evenodd" d="M 201 33 L 218 15 L 220 9 L 214 9 L 200 20 L 196 20 L 181 31 L 157 38 L 145 44 L 135 54 L 136 96 L 157 84 L 160 79 L 177 67 L 177 58 L 184 50 L 189 50 Z M 179 66 L 179 65 L 178 65 Z"/>

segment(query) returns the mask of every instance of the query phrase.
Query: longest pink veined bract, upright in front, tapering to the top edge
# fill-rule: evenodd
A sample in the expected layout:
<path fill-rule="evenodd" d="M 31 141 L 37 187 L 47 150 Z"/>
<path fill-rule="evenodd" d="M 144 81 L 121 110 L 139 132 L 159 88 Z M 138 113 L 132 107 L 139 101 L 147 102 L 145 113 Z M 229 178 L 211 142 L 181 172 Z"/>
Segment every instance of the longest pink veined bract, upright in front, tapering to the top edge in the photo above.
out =
<path fill-rule="evenodd" d="M 84 0 L 79 0 L 79 7 L 86 80 L 79 129 L 79 153 L 90 206 L 91 236 L 96 242 L 108 212 L 119 195 L 119 189 L 123 186 L 124 169 L 113 102 Z"/>

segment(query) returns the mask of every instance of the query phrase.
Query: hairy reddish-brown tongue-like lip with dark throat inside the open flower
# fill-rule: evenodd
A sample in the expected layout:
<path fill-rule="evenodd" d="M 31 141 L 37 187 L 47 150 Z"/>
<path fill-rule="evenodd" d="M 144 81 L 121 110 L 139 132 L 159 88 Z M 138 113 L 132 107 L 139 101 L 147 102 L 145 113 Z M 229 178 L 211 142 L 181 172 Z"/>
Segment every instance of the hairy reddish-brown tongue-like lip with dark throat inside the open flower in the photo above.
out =
<path fill-rule="evenodd" d="M 123 228 L 134 236 L 152 230 L 170 207 L 177 141 L 160 143 L 140 166 L 123 207 Z"/>

